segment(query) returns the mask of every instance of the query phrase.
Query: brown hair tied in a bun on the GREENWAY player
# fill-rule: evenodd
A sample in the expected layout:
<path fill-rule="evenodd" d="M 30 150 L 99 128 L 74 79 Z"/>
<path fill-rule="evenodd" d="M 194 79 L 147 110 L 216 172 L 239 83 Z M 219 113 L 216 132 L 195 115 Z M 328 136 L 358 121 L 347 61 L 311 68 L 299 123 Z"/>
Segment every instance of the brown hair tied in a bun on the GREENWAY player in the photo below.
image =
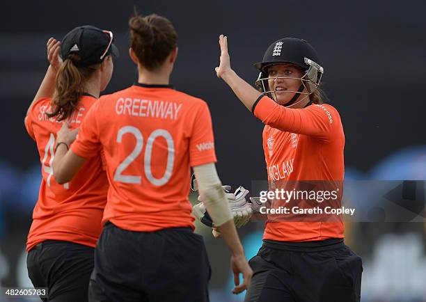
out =
<path fill-rule="evenodd" d="M 156 14 L 141 16 L 134 13 L 129 19 L 130 44 L 143 67 L 155 70 L 177 46 L 178 33 L 173 24 Z"/>

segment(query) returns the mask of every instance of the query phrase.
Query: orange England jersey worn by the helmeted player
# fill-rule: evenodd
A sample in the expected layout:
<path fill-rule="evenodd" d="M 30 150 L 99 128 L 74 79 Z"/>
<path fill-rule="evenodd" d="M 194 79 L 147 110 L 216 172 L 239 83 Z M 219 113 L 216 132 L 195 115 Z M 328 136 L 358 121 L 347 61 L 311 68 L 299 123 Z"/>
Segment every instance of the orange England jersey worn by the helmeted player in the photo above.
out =
<path fill-rule="evenodd" d="M 265 124 L 263 148 L 269 184 L 296 180 L 336 181 L 344 177 L 345 134 L 338 111 L 329 104 L 288 109 L 262 97 L 253 112 Z M 264 239 L 314 241 L 342 238 L 338 222 L 267 222 Z"/>

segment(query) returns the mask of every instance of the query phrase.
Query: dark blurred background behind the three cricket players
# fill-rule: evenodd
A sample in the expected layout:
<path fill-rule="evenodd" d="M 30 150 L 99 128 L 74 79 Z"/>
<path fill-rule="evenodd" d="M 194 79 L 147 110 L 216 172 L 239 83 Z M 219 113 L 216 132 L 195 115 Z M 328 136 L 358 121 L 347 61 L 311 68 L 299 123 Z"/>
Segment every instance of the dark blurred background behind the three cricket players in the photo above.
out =
<path fill-rule="evenodd" d="M 345 129 L 345 181 L 426 180 L 423 0 L 7 1 L 0 11 L 1 287 L 31 286 L 24 247 L 41 175 L 24 115 L 47 70 L 46 42 L 84 24 L 113 31 L 121 56 L 105 93 L 123 89 L 136 76 L 127 55 L 127 22 L 134 6 L 175 25 L 179 56 L 172 83 L 209 104 L 224 184 L 251 189 L 267 173 L 262 123 L 214 72 L 221 33 L 228 35 L 233 69 L 251 83 L 258 76 L 253 63 L 262 60 L 271 42 L 297 37 L 317 49 L 325 69 L 323 88 Z M 395 221 L 373 215 L 370 221 L 347 223 L 345 242 L 363 257 L 363 302 L 426 301 L 425 189 L 418 182 L 422 186 L 414 194 L 420 208 L 412 216 Z M 378 202 L 362 188 L 352 198 L 372 208 Z M 402 210 L 403 199 L 398 202 Z M 261 222 L 239 230 L 247 257 L 260 248 L 262 230 Z M 223 242 L 203 226 L 197 232 L 205 236 L 210 255 L 211 301 L 242 301 L 243 296 L 230 293 Z"/>

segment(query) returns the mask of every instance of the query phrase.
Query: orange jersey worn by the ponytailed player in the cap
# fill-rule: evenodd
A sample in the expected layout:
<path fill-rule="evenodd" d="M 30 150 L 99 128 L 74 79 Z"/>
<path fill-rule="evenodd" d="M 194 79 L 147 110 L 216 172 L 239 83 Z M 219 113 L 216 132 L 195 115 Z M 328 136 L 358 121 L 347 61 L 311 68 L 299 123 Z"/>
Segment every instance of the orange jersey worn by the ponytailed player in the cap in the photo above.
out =
<path fill-rule="evenodd" d="M 68 119 L 73 129 L 81 125 L 95 102 L 95 97 L 81 97 L 78 108 Z M 50 111 L 51 103 L 49 98 L 36 101 L 25 120 L 27 132 L 37 143 L 42 165 L 40 193 L 26 249 L 29 251 L 47 239 L 95 247 L 102 231 L 102 212 L 107 202 L 107 174 L 102 169 L 100 154 L 96 153 L 71 182 L 58 184 L 55 181 L 52 162 L 56 132 L 61 129 L 62 122 L 45 115 Z"/>

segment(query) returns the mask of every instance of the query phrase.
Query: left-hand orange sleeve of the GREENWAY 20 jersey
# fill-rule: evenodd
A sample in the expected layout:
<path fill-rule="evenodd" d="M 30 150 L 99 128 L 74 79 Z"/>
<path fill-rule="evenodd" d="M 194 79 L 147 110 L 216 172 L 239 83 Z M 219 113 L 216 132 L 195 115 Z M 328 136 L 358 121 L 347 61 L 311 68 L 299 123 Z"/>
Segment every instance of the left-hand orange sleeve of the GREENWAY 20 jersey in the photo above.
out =
<path fill-rule="evenodd" d="M 99 154 L 100 143 L 100 100 L 89 109 L 79 129 L 77 139 L 72 143 L 71 150 L 79 157 L 88 159 Z"/>

